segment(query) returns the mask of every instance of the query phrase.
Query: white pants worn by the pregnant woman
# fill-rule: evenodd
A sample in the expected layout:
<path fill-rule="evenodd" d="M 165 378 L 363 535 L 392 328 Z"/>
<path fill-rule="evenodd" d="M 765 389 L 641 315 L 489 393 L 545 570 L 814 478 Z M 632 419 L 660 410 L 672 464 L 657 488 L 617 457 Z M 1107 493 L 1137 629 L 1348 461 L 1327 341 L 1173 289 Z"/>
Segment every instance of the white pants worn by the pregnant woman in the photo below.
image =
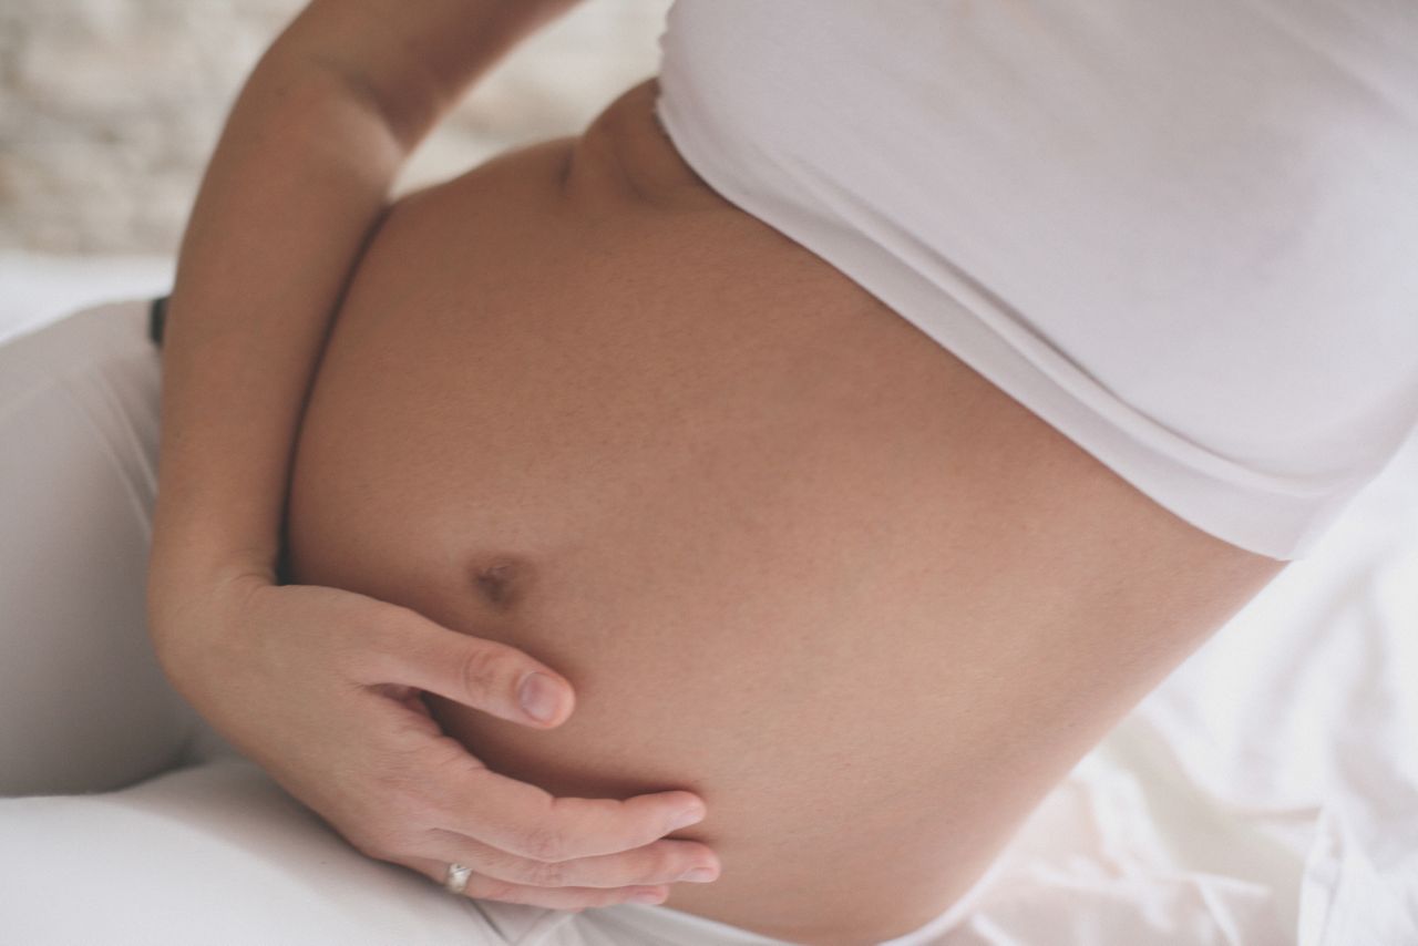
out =
<path fill-rule="evenodd" d="M 0 942 L 781 943 L 665 906 L 452 896 L 356 851 L 217 736 L 145 627 L 147 311 L 101 305 L 0 343 L 0 796 L 26 796 L 0 798 Z M 891 945 L 944 942 L 973 899 Z"/>

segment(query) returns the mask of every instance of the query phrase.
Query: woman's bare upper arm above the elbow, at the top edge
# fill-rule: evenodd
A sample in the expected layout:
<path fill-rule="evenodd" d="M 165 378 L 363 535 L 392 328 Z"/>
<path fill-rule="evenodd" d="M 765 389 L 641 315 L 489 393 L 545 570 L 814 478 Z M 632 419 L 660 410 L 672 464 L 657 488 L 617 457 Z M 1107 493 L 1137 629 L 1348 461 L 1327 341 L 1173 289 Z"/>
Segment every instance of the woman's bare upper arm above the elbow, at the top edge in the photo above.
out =
<path fill-rule="evenodd" d="M 267 57 L 329 69 L 411 150 L 512 47 L 580 0 L 312 0 Z"/>

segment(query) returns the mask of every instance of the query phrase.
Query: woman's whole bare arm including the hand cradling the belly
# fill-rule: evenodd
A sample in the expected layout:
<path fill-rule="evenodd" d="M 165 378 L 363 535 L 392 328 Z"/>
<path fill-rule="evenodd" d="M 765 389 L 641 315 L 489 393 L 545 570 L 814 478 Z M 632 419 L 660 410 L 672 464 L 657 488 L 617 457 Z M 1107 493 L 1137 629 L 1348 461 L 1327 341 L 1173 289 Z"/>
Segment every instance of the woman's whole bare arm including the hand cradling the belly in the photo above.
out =
<path fill-rule="evenodd" d="M 702 801 L 553 798 L 488 772 L 418 692 L 546 728 L 570 713 L 570 684 L 407 608 L 279 586 L 277 559 L 315 365 L 394 174 L 478 75 L 571 3 L 316 0 L 261 58 L 179 257 L 149 570 L 174 686 L 356 847 L 432 879 L 459 861 L 476 871 L 469 895 L 567 909 L 713 865 L 700 844 L 657 840 Z M 533 671 L 549 684 L 540 719 L 519 701 Z"/>

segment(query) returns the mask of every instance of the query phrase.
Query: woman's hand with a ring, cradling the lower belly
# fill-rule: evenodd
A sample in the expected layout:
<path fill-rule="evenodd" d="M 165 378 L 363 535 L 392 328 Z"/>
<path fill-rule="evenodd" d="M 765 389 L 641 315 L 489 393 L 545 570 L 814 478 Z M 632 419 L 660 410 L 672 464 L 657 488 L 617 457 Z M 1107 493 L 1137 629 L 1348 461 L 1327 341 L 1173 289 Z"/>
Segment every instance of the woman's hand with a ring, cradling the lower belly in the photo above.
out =
<path fill-rule="evenodd" d="M 489 772 L 440 730 L 420 691 L 533 728 L 570 715 L 570 684 L 512 647 L 257 573 L 155 572 L 149 613 L 179 692 L 370 857 L 440 884 L 455 861 L 474 871 L 468 896 L 569 911 L 661 902 L 688 871 L 719 872 L 703 844 L 661 840 L 703 817 L 695 794 L 556 798 Z M 532 691 L 547 698 L 546 720 L 519 702 L 532 672 L 549 684 Z"/>

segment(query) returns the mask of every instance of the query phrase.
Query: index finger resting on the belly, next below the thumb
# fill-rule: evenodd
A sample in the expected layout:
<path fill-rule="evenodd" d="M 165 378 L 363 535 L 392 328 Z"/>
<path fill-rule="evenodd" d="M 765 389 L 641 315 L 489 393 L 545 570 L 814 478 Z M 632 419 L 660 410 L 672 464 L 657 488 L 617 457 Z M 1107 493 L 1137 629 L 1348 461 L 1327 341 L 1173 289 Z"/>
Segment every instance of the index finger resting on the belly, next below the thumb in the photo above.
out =
<path fill-rule="evenodd" d="M 617 854 L 655 841 L 705 817 L 691 791 L 631 798 L 557 798 L 489 769 L 462 780 L 461 797 L 441 806 L 435 824 L 533 861 Z"/>

